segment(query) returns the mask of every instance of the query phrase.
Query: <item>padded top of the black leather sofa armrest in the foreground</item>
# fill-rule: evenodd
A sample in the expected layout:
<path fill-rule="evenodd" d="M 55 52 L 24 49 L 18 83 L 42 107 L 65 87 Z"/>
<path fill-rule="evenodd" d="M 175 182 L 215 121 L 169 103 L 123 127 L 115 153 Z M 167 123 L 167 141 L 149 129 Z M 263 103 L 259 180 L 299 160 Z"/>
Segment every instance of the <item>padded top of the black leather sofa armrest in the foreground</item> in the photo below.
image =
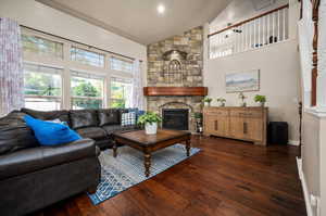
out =
<path fill-rule="evenodd" d="M 0 180 L 85 157 L 97 157 L 96 148 L 93 140 L 82 139 L 67 144 L 37 147 L 1 155 Z"/>

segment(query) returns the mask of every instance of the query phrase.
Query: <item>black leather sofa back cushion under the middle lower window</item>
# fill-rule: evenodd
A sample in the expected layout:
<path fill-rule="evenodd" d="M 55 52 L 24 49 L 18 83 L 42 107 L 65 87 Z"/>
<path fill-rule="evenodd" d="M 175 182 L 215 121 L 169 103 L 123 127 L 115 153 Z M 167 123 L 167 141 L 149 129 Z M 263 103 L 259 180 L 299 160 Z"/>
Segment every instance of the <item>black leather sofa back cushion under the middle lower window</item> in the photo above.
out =
<path fill-rule="evenodd" d="M 70 117 L 73 129 L 98 126 L 96 110 L 71 111 Z"/>

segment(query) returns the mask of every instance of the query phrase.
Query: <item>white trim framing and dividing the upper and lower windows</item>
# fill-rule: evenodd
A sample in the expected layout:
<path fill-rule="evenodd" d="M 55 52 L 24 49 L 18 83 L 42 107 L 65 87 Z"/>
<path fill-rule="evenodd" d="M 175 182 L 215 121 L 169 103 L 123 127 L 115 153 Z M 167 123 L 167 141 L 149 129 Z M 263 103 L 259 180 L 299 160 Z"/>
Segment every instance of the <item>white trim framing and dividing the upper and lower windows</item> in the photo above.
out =
<path fill-rule="evenodd" d="M 101 75 L 104 76 L 104 82 L 103 82 L 103 109 L 108 109 L 111 104 L 111 92 L 110 92 L 110 85 L 111 85 L 111 77 L 122 77 L 122 78 L 128 78 L 131 79 L 134 78 L 134 73 L 129 72 L 121 72 L 121 71 L 115 71 L 111 69 L 110 65 L 110 58 L 114 56 L 116 59 L 121 59 L 123 61 L 127 61 L 133 63 L 131 60 L 121 58 L 118 55 L 113 55 L 112 53 L 106 53 L 100 50 L 97 50 L 95 48 L 89 49 L 83 45 L 71 42 L 61 38 L 57 38 L 54 36 L 49 36 L 46 34 L 41 34 L 38 31 L 34 30 L 27 30 L 25 28 L 22 28 L 22 33 L 25 35 L 32 35 L 32 36 L 37 36 L 41 37 L 45 39 L 49 39 L 52 41 L 61 42 L 63 43 L 63 59 L 58 59 L 58 58 L 49 58 L 45 55 L 39 55 L 35 53 L 26 53 L 24 55 L 24 63 L 33 63 L 37 65 L 42 65 L 42 66 L 51 66 L 51 67 L 57 67 L 57 68 L 62 68 L 62 94 L 61 94 L 61 110 L 70 110 L 72 109 L 72 99 L 75 97 L 71 96 L 71 71 L 77 71 L 77 72 L 85 72 L 88 74 L 96 74 L 96 75 Z M 77 47 L 84 50 L 88 50 L 91 52 L 97 52 L 100 54 L 104 54 L 104 66 L 103 67 L 98 67 L 98 66 L 91 66 L 83 63 L 78 63 L 75 61 L 71 60 L 71 48 L 72 47 Z M 135 60 L 138 61 L 138 60 Z M 133 69 L 134 71 L 134 69 Z M 95 98 L 92 98 L 95 99 Z"/>

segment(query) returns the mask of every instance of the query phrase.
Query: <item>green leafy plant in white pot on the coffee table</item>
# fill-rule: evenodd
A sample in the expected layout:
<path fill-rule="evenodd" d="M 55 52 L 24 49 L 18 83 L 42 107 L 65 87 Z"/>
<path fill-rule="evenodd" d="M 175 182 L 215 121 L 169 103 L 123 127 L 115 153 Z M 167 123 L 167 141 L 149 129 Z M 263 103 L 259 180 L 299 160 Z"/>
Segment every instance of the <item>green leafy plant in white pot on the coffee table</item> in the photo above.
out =
<path fill-rule="evenodd" d="M 147 135 L 155 135 L 158 132 L 158 123 L 161 123 L 162 118 L 159 114 L 147 112 L 139 116 L 138 124 L 145 125 L 145 131 Z"/>

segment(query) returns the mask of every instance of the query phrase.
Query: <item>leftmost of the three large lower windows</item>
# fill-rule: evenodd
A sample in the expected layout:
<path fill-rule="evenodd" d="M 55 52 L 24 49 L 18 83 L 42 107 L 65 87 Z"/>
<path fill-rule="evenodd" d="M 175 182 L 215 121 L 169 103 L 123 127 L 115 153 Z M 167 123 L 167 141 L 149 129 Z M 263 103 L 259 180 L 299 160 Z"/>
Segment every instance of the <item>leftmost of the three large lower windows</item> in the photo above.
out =
<path fill-rule="evenodd" d="M 61 109 L 62 69 L 24 64 L 25 107 L 53 111 Z"/>

